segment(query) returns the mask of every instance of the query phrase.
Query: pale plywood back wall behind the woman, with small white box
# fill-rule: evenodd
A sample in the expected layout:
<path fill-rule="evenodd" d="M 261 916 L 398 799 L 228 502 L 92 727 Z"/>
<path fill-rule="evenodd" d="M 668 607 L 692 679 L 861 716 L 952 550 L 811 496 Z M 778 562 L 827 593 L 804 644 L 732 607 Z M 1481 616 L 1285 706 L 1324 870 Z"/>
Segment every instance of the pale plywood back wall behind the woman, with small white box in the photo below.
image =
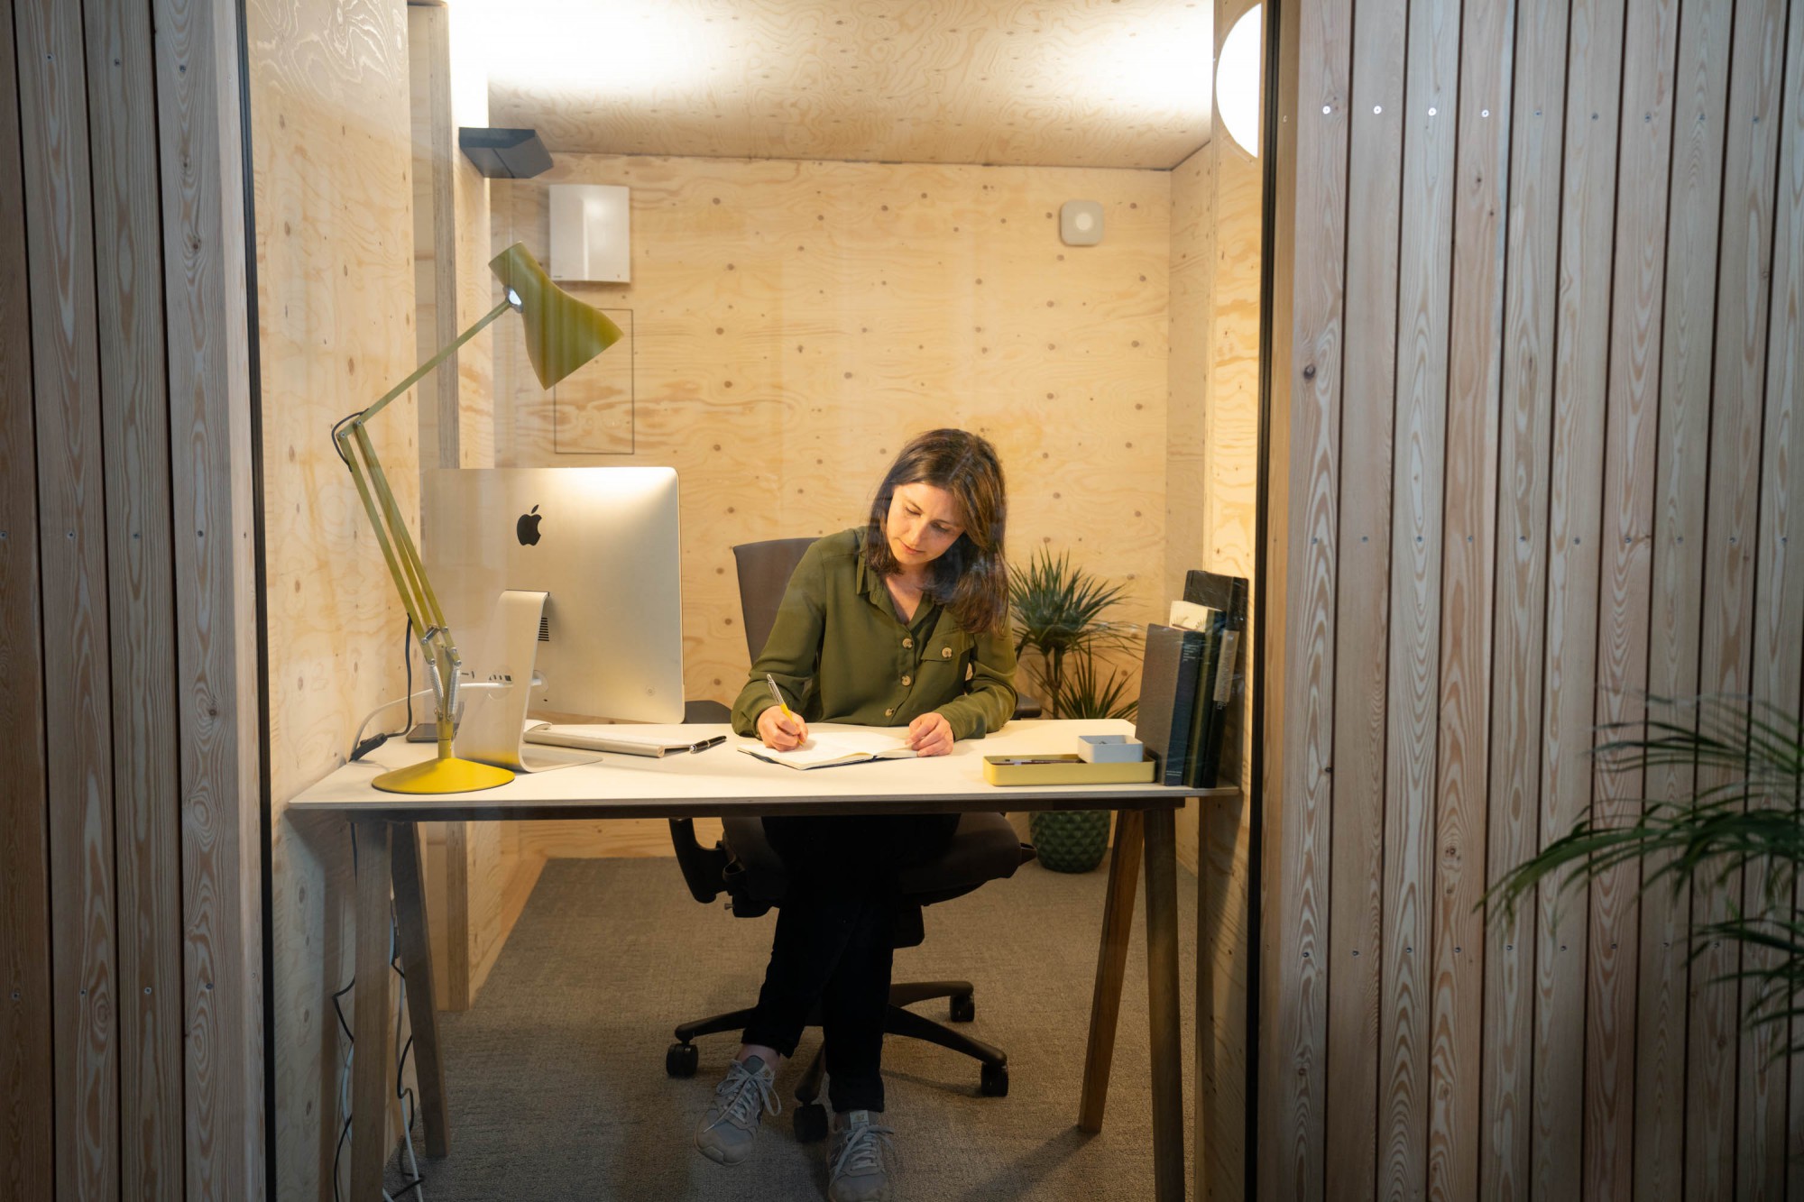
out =
<path fill-rule="evenodd" d="M 1164 612 L 1167 171 L 556 155 L 496 184 L 498 244 L 545 251 L 556 182 L 631 188 L 633 282 L 572 291 L 630 314 L 633 397 L 579 426 L 500 336 L 496 460 L 678 469 L 691 697 L 745 679 L 731 547 L 859 523 L 933 426 L 1001 453 L 1010 556 L 1070 550 L 1122 619 Z M 1059 242 L 1070 199 L 1102 202 L 1100 245 Z"/>

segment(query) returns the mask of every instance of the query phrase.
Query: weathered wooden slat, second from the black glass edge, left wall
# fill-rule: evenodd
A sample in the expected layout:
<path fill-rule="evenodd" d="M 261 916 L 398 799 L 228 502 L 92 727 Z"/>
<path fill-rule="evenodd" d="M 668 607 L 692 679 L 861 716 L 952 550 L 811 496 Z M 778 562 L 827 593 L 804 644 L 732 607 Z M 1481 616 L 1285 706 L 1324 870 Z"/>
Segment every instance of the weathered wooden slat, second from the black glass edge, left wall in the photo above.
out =
<path fill-rule="evenodd" d="M 182 922 L 170 422 L 150 9 L 87 7 L 94 267 L 106 448 L 114 848 L 119 906 L 121 1188 L 182 1182 Z"/>

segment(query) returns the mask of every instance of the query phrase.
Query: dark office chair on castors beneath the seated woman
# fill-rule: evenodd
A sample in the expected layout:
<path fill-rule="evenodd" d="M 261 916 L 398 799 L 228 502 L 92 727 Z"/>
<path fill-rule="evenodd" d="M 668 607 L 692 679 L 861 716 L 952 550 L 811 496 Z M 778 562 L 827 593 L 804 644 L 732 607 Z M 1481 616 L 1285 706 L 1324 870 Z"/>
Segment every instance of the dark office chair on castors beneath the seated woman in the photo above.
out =
<path fill-rule="evenodd" d="M 740 570 L 745 646 L 754 662 L 770 635 L 788 578 L 810 543 L 814 543 L 812 538 L 778 538 L 732 549 Z M 1034 713 L 1037 711 L 1039 706 L 1034 704 Z M 1016 709 L 1016 715 L 1021 717 L 1021 707 Z M 723 827 L 720 843 L 704 848 L 695 837 L 695 819 L 671 819 L 676 865 L 689 884 L 689 893 L 698 902 L 711 902 L 725 892 L 734 917 L 741 919 L 756 919 L 769 913 L 772 906 L 781 906 L 788 877 L 783 859 L 765 839 L 763 821 L 727 818 Z M 1030 859 L 1034 859 L 1034 848 L 1016 837 L 1014 827 L 1001 814 L 962 814 L 951 846 L 938 859 L 902 874 L 904 904 L 897 917 L 893 946 L 913 948 L 922 942 L 922 906 L 960 897 L 985 881 L 1010 877 Z M 884 1032 L 927 1040 L 971 1056 L 981 1065 L 980 1092 L 987 1097 L 1005 1097 L 1008 1094 L 1007 1052 L 904 1009 L 933 998 L 949 1000 L 953 1022 L 969 1023 L 976 1018 L 978 1007 L 969 980 L 893 984 Z M 695 1076 L 698 1054 L 693 1040 L 722 1031 L 743 1031 L 750 1016 L 752 1011 L 747 1007 L 678 1025 L 676 1041 L 664 1056 L 664 1070 L 673 1077 Z M 810 1027 L 819 1023 L 819 1011 L 808 1016 Z M 796 1086 L 796 1101 L 799 1103 L 794 1119 L 796 1139 L 803 1142 L 826 1139 L 826 1110 L 815 1101 L 821 1096 L 823 1076 L 824 1058 L 821 1050 L 815 1050 L 801 1085 Z"/>

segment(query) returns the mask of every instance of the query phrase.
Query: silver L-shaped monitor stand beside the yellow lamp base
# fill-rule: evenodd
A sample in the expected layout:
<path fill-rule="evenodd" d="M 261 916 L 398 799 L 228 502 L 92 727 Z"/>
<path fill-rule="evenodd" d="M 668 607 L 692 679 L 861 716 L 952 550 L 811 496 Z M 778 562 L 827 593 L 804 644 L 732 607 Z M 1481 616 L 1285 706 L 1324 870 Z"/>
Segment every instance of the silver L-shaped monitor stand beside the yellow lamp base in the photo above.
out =
<path fill-rule="evenodd" d="M 550 594 L 509 588 L 496 601 L 489 628 L 469 648 L 465 664 L 471 677 L 465 684 L 487 688 L 465 689 L 464 720 L 456 727 L 456 754 L 516 772 L 543 772 L 574 763 L 599 760 L 592 751 L 529 745 L 521 738 L 527 729 L 527 700 L 532 684 L 532 666 L 539 653 L 539 619 Z"/>

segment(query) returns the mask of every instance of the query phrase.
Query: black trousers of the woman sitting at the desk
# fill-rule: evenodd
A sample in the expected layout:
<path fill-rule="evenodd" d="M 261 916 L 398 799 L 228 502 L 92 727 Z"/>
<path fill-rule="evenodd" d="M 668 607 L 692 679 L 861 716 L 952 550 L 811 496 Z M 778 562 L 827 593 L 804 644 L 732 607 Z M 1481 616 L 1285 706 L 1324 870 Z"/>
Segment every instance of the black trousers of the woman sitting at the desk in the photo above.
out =
<path fill-rule="evenodd" d="M 958 814 L 765 819 L 790 888 L 745 1043 L 794 1056 L 819 1005 L 826 1094 L 839 1114 L 884 1108 L 897 874 L 945 852 L 954 830 Z"/>

